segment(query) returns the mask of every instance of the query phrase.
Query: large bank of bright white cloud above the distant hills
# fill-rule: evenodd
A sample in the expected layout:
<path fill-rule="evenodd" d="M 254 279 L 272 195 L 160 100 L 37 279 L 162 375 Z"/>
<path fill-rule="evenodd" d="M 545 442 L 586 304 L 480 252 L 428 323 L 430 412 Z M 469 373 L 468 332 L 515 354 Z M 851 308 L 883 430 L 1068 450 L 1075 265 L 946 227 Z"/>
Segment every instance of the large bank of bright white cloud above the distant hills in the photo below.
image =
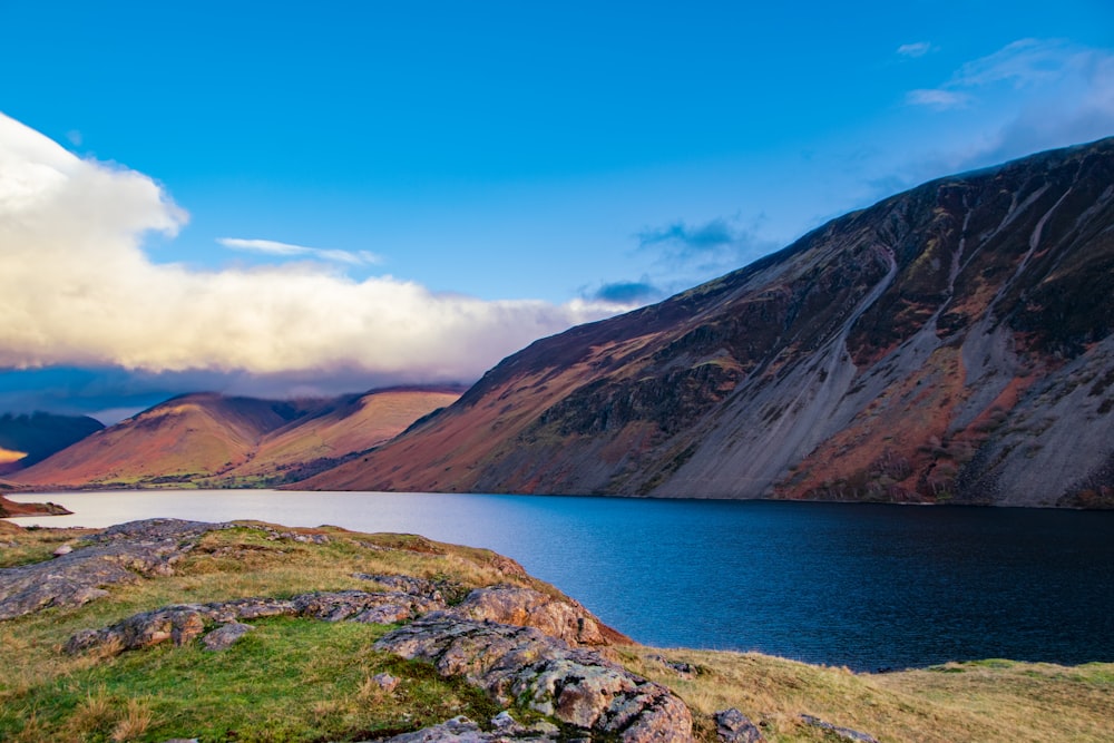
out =
<path fill-rule="evenodd" d="M 79 159 L 0 114 L 0 366 L 469 380 L 539 336 L 622 309 L 487 302 L 304 262 L 154 264 L 143 235 L 174 235 L 186 218 L 150 178 Z"/>

